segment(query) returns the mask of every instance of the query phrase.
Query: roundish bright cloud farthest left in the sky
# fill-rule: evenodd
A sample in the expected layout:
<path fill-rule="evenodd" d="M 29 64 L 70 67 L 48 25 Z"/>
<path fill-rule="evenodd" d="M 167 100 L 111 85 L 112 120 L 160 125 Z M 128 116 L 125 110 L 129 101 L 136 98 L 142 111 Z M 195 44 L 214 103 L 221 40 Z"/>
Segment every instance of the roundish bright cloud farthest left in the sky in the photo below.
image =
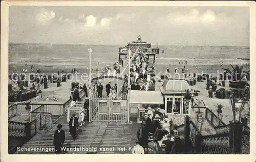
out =
<path fill-rule="evenodd" d="M 36 20 L 40 25 L 48 24 L 55 17 L 55 12 L 41 9 L 37 14 Z"/>

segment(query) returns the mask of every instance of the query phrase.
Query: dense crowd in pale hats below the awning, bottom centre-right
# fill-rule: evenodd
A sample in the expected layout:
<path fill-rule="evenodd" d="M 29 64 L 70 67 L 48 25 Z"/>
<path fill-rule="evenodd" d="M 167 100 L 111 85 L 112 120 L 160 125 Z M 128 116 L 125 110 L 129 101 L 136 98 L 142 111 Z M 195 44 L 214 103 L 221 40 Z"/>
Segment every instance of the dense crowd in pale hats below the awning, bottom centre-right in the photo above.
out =
<path fill-rule="evenodd" d="M 136 148 L 138 154 L 184 153 L 184 141 L 178 136 L 177 128 L 170 125 L 168 116 L 160 107 L 146 106 L 144 118 L 137 131 Z M 139 146 L 138 146 L 139 145 Z"/>

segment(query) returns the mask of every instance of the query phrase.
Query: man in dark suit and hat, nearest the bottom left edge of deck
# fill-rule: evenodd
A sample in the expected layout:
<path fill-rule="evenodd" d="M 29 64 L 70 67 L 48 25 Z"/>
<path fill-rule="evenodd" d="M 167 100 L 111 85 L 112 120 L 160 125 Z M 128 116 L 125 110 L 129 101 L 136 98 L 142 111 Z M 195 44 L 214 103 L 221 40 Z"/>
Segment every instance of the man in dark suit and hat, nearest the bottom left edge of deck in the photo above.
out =
<path fill-rule="evenodd" d="M 65 131 L 62 130 L 62 125 L 57 125 L 57 130 L 54 132 L 54 138 L 53 138 L 53 144 L 55 147 L 56 153 L 61 153 L 61 147 L 63 146 L 63 143 L 65 142 Z"/>

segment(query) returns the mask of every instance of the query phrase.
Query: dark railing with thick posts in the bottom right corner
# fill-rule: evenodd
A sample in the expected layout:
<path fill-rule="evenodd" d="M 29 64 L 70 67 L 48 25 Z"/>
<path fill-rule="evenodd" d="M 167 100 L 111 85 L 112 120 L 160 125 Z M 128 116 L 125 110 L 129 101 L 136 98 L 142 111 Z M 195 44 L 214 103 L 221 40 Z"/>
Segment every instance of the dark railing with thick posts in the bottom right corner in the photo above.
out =
<path fill-rule="evenodd" d="M 189 116 L 177 126 L 178 136 L 191 152 L 200 154 L 249 154 L 250 127 L 246 123 L 217 126 L 217 134 L 202 136 Z"/>

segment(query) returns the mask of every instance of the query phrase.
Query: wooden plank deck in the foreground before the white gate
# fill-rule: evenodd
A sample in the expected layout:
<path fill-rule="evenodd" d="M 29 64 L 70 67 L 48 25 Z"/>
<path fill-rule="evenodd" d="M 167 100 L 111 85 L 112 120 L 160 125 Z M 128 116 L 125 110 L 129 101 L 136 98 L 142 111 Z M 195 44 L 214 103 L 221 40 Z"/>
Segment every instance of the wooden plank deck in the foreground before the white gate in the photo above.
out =
<path fill-rule="evenodd" d="M 62 129 L 65 131 L 66 135 L 66 140 L 63 147 L 82 148 L 80 149 L 80 151 L 66 150 L 63 151 L 63 153 L 131 153 L 129 147 L 133 147 L 135 145 L 136 132 L 139 126 L 140 124 L 132 123 L 90 123 L 88 125 L 83 125 L 78 128 L 77 138 L 74 141 L 69 134 L 68 124 L 63 124 Z M 16 154 L 55 154 L 53 145 L 55 128 L 38 133 L 22 147 L 22 149 L 37 149 L 36 151 L 20 149 L 20 151 L 17 151 Z M 95 147 L 97 148 L 97 151 L 88 150 L 89 148 Z M 115 149 L 111 150 L 110 148 L 113 147 Z M 117 150 L 117 147 L 125 147 L 125 150 Z M 48 152 L 46 152 L 46 148 L 48 148 Z"/>

